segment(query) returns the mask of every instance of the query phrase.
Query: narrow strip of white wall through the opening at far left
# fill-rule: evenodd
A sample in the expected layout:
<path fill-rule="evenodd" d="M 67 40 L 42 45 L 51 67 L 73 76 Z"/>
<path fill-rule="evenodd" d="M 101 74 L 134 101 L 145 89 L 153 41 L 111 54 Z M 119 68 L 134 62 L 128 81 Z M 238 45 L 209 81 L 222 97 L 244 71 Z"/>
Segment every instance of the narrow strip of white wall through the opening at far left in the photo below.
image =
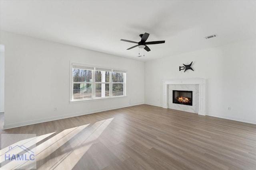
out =
<path fill-rule="evenodd" d="M 0 45 L 0 112 L 4 112 L 4 45 Z"/>

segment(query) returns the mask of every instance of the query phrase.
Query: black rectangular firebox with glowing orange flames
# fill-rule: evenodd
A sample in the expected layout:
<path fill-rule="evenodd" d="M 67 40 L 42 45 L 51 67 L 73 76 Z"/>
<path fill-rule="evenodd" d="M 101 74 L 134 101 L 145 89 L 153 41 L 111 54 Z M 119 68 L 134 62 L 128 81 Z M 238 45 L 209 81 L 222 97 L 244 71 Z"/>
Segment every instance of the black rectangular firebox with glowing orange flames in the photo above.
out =
<path fill-rule="evenodd" d="M 192 91 L 172 90 L 172 103 L 192 106 Z"/>

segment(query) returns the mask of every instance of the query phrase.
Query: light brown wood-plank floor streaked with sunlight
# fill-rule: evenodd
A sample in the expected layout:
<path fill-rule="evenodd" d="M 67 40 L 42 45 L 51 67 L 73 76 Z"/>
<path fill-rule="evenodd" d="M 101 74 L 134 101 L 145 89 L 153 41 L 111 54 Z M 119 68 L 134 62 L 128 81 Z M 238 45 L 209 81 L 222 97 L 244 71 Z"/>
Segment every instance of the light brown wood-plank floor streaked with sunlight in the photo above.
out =
<path fill-rule="evenodd" d="M 255 170 L 256 125 L 139 105 L 2 130 L 36 133 L 42 170 Z"/>

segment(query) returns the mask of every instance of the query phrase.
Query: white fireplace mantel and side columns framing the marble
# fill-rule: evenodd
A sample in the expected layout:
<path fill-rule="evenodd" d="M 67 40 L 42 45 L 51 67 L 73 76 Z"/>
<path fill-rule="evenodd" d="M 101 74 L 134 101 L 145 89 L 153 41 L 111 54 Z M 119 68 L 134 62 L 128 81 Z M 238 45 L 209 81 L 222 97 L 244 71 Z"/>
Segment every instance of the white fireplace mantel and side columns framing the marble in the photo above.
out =
<path fill-rule="evenodd" d="M 198 114 L 205 115 L 205 79 L 196 78 L 196 79 L 173 79 L 173 80 L 164 80 L 164 108 L 168 108 L 168 85 L 173 84 L 196 84 L 199 85 L 199 108 Z"/>

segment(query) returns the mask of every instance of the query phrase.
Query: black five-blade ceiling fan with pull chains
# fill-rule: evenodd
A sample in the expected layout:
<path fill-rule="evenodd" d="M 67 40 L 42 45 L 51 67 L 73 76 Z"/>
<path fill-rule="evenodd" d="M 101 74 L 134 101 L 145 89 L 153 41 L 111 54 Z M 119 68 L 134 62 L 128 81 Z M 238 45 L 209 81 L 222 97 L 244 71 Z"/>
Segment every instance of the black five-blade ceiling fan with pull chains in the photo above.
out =
<path fill-rule="evenodd" d="M 161 44 L 164 43 L 165 41 L 150 41 L 150 42 L 146 42 L 146 40 L 148 39 L 149 33 L 144 33 L 144 34 L 140 34 L 141 40 L 140 42 L 135 42 L 135 41 L 130 41 L 130 40 L 126 40 L 126 39 L 120 39 L 121 41 L 126 41 L 129 43 L 136 43 L 138 45 L 134 45 L 133 47 L 128 48 L 127 50 L 130 50 L 134 47 L 139 47 L 140 49 L 145 49 L 146 51 L 150 51 L 150 48 L 147 45 L 150 44 Z"/>

